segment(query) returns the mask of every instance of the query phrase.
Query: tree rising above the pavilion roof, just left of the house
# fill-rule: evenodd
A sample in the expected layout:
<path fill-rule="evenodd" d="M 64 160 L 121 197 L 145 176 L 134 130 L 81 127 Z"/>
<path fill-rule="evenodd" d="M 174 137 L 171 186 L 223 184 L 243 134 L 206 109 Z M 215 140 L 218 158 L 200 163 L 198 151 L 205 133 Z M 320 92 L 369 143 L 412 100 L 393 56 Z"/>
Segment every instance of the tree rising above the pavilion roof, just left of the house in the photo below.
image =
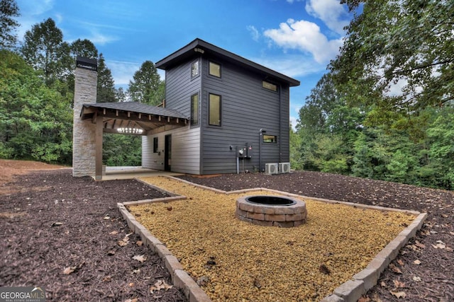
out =
<path fill-rule="evenodd" d="M 164 100 L 164 83 L 160 80 L 155 64 L 143 62 L 129 81 L 128 93 L 131 100 L 149 105 L 159 105 Z"/>

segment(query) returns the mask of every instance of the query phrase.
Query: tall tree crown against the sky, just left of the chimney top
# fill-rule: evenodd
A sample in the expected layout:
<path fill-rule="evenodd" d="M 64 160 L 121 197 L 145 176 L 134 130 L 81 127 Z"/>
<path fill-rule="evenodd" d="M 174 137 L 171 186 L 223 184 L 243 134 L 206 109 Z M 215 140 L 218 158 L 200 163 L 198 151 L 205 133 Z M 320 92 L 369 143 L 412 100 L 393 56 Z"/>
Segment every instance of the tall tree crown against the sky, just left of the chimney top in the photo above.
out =
<path fill-rule="evenodd" d="M 65 80 L 72 73 L 70 45 L 63 42 L 63 33 L 52 18 L 32 26 L 24 35 L 21 47 L 26 62 L 43 75 L 45 83 Z"/>

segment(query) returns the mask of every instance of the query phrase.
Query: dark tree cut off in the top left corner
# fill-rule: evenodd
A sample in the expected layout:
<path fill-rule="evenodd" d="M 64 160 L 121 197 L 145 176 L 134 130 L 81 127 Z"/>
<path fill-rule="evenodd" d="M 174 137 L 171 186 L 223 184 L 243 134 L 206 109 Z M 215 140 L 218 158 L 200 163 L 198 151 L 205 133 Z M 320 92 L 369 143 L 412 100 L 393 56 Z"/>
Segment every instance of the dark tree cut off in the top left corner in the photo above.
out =
<path fill-rule="evenodd" d="M 14 33 L 19 23 L 13 19 L 18 17 L 19 8 L 15 0 L 0 0 L 0 49 L 11 49 L 17 42 Z"/>

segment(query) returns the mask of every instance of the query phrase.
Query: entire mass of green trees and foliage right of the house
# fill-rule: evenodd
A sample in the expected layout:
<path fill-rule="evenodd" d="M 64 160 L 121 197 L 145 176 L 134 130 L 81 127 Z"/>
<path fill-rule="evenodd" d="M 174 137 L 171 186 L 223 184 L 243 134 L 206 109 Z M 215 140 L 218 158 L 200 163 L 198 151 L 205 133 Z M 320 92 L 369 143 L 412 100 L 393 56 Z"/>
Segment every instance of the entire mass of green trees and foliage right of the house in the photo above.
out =
<path fill-rule="evenodd" d="M 299 111 L 292 160 L 309 170 L 452 190 L 454 2 L 341 3 L 355 18 Z"/>

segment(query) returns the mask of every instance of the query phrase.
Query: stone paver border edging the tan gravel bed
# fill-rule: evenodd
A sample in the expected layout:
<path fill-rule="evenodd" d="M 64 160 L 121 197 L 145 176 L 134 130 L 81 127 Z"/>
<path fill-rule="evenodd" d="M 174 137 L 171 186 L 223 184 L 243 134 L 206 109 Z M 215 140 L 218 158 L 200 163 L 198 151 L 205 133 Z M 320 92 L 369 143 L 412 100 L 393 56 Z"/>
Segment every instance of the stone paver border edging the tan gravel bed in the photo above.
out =
<path fill-rule="evenodd" d="M 186 182 L 189 185 L 194 185 L 195 187 L 201 187 L 205 190 L 210 190 L 212 192 L 220 193 L 220 194 L 242 194 L 245 192 L 253 192 L 253 191 L 267 191 L 267 192 L 275 192 L 278 194 L 283 194 L 289 197 L 299 197 L 299 198 L 307 198 L 313 199 L 319 202 L 326 202 L 330 204 L 344 204 L 349 207 L 355 207 L 360 209 L 375 209 L 378 211 L 399 211 L 405 214 L 412 214 L 416 215 L 414 221 L 410 223 L 409 226 L 404 228 L 396 238 L 391 240 L 380 252 L 375 255 L 371 262 L 367 265 L 365 269 L 354 274 L 353 277 L 345 281 L 343 284 L 338 286 L 334 289 L 333 293 L 326 296 L 321 300 L 321 302 L 355 302 L 364 295 L 369 289 L 371 289 L 375 284 L 377 284 L 378 279 L 380 278 L 380 274 L 388 267 L 389 263 L 394 260 L 397 255 L 399 255 L 399 250 L 408 243 L 410 238 L 416 235 L 416 232 L 421 229 L 423 226 L 423 222 L 427 218 L 427 213 L 421 213 L 419 211 L 411 211 L 406 209 L 393 209 L 387 207 L 377 207 L 377 206 L 370 206 L 367 204 L 355 204 L 353 202 L 339 202 L 337 200 L 331 199 L 323 199 L 317 197 L 306 197 L 299 194 L 292 194 L 289 192 L 282 192 L 278 190 L 267 189 L 263 187 L 253 188 L 253 189 L 245 189 L 245 190 L 236 190 L 236 191 L 223 191 L 218 190 L 213 187 L 206 187 L 204 185 L 198 185 L 194 182 L 189 182 L 187 180 L 182 180 L 181 178 L 175 178 L 173 176 L 164 176 L 166 178 L 178 180 L 181 182 Z M 143 180 L 137 179 L 140 182 L 143 182 L 147 185 L 150 185 L 148 182 Z M 172 277 L 172 282 L 177 289 L 181 289 L 184 293 L 184 296 L 189 299 L 189 302 L 209 302 L 211 298 L 200 288 L 196 281 L 192 279 L 192 277 L 184 272 L 184 269 L 179 263 L 177 257 L 172 255 L 172 252 L 167 249 L 164 243 L 162 243 L 159 239 L 155 238 L 147 228 L 145 228 L 142 224 L 140 224 L 133 214 L 131 214 L 126 207 L 138 205 L 138 204 L 148 204 L 148 203 L 155 203 L 155 202 L 172 202 L 176 200 L 184 200 L 187 197 L 182 195 L 177 195 L 172 192 L 167 192 L 162 190 L 160 187 L 156 187 L 154 185 L 150 185 L 151 187 L 159 190 L 160 192 L 165 192 L 170 195 L 170 197 L 164 198 L 157 198 L 157 199 L 143 199 L 134 202 L 123 202 L 117 203 L 117 207 L 123 216 L 123 219 L 126 220 L 128 223 L 128 227 L 134 233 L 138 234 L 142 239 L 143 243 L 148 246 L 153 252 L 157 252 L 158 255 L 164 260 L 165 267 L 169 270 L 170 275 Z"/>

